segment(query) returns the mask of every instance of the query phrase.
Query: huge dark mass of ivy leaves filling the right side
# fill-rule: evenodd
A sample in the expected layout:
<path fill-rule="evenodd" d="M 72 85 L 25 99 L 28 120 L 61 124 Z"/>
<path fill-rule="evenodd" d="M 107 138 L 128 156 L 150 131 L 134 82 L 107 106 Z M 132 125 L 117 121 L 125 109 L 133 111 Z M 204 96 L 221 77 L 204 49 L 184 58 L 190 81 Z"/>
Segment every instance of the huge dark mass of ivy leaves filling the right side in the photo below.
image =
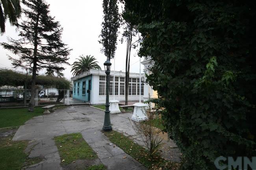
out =
<path fill-rule="evenodd" d="M 125 5 L 143 37 L 139 55 L 154 62 L 147 82 L 158 91 L 165 128 L 185 157 L 183 169 L 212 170 L 220 155 L 255 154 L 253 2 L 125 0 Z"/>

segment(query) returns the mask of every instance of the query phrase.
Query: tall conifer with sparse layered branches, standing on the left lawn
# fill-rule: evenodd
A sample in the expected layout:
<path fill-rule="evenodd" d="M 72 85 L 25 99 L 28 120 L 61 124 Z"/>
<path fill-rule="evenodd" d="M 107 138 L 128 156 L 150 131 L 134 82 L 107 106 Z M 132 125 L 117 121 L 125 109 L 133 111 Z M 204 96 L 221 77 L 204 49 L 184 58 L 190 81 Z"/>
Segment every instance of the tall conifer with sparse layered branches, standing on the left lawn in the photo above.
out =
<path fill-rule="evenodd" d="M 21 24 L 19 40 L 9 38 L 8 43 L 1 45 L 19 57 L 11 57 L 14 67 L 29 69 L 32 72 L 31 99 L 29 111 L 34 110 L 35 80 L 37 72 L 41 69 L 52 69 L 57 73 L 65 68 L 61 64 L 67 62 L 72 49 L 61 40 L 62 27 L 54 17 L 50 16 L 49 5 L 45 0 L 23 0 L 26 8 L 23 13 L 26 17 Z"/>

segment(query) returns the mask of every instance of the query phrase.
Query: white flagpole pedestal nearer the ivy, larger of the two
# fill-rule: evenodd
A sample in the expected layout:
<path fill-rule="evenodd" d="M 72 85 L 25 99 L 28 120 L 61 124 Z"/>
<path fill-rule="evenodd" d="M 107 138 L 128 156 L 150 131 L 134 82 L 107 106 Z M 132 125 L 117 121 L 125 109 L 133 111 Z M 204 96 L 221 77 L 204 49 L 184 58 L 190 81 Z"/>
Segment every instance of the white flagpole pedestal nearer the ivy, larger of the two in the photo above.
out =
<path fill-rule="evenodd" d="M 132 115 L 132 120 L 135 122 L 145 121 L 147 119 L 146 113 L 143 113 L 147 104 L 135 103 L 134 104 L 134 114 Z"/>

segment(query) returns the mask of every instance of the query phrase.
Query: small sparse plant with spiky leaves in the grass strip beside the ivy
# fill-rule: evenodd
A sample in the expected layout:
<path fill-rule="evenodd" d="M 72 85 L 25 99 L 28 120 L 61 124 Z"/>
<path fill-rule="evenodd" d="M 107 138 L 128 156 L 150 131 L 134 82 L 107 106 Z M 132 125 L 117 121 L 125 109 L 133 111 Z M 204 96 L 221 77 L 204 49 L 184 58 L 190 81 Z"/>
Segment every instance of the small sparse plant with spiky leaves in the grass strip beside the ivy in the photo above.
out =
<path fill-rule="evenodd" d="M 150 101 L 150 99 L 148 101 Z M 137 135 L 142 138 L 148 151 L 148 157 L 153 158 L 155 155 L 159 154 L 163 139 L 159 135 L 161 130 L 153 126 L 155 112 L 151 109 L 151 103 L 147 103 L 148 107 L 143 110 L 143 114 L 147 116 L 147 120 L 144 122 L 131 122 L 131 124 Z"/>

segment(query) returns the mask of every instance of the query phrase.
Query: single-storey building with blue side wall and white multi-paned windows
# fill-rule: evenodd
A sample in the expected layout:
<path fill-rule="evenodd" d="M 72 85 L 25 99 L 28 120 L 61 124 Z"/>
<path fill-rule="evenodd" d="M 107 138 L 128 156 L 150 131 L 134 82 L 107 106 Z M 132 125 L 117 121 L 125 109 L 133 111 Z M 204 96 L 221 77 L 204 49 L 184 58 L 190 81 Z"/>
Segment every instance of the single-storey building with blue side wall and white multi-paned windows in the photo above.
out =
<path fill-rule="evenodd" d="M 104 70 L 89 69 L 72 77 L 73 99 L 90 104 L 106 103 L 106 73 Z M 141 74 L 141 96 L 144 95 L 144 74 Z M 109 100 L 125 101 L 125 72 L 111 71 Z M 139 101 L 139 73 L 130 73 L 128 101 Z"/>

